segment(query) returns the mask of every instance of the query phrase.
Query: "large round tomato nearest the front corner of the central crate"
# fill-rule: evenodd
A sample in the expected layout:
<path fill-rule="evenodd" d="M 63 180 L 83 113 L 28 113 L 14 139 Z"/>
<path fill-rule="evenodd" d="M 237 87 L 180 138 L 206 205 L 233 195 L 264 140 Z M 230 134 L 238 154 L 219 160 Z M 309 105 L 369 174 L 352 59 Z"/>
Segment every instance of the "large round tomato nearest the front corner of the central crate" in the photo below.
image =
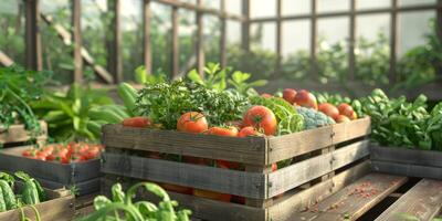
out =
<path fill-rule="evenodd" d="M 274 135 L 277 128 L 275 114 L 265 106 L 251 107 L 243 117 L 244 126 L 263 129 L 265 135 Z"/>

